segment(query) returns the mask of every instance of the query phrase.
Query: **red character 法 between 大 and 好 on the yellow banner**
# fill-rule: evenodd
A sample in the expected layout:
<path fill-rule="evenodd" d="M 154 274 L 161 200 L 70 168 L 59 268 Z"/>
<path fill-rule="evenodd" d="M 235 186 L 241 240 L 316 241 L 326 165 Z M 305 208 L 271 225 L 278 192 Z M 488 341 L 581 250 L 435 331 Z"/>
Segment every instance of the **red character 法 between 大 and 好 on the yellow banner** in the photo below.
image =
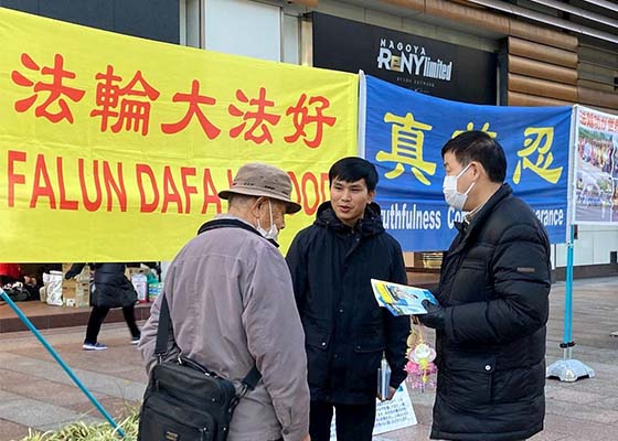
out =
<path fill-rule="evenodd" d="M 243 111 L 231 104 L 227 107 L 230 115 L 232 115 L 233 117 L 242 117 L 243 122 L 230 129 L 230 136 L 232 138 L 237 138 L 243 132 L 243 130 L 245 130 L 247 121 L 253 119 L 252 126 L 245 131 L 245 140 L 253 141 L 258 144 L 263 143 L 264 141 L 273 143 L 273 135 L 270 133 L 270 129 L 268 128 L 267 123 L 270 126 L 276 126 L 281 117 L 275 114 L 268 114 L 266 111 L 267 107 L 275 107 L 275 101 L 266 99 L 266 88 L 260 87 L 259 97 L 252 98 L 251 100 L 247 98 L 243 90 L 237 89 L 236 98 L 241 103 L 248 103 L 249 106 L 256 106 L 257 109 L 256 111 Z M 256 135 L 256 131 L 258 131 L 258 129 L 259 135 Z"/>

